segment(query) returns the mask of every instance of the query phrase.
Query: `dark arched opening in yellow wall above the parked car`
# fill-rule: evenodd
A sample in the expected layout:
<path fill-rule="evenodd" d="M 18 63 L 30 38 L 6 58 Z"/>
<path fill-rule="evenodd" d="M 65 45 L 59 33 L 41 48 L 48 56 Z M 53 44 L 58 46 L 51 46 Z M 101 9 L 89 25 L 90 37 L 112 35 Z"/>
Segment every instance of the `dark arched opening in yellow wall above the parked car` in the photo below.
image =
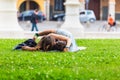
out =
<path fill-rule="evenodd" d="M 23 11 L 26 11 L 26 10 L 34 10 L 36 8 L 39 8 L 39 5 L 35 1 L 26 0 L 20 5 L 19 11 L 23 12 Z"/>

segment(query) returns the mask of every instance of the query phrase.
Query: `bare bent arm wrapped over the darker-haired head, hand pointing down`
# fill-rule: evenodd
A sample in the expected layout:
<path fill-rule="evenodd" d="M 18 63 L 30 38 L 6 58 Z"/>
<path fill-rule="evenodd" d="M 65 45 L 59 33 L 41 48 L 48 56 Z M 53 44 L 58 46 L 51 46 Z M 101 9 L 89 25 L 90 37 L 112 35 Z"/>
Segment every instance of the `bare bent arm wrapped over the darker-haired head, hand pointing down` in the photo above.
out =
<path fill-rule="evenodd" d="M 51 33 L 51 34 L 48 34 L 49 36 L 53 36 L 55 37 L 56 39 L 59 39 L 59 40 L 63 40 L 63 41 L 66 41 L 66 47 L 65 47 L 65 50 L 64 51 L 68 51 L 70 45 L 71 45 L 71 39 L 66 37 L 66 36 L 63 36 L 63 35 L 59 35 L 59 34 L 54 34 L 54 33 Z"/>

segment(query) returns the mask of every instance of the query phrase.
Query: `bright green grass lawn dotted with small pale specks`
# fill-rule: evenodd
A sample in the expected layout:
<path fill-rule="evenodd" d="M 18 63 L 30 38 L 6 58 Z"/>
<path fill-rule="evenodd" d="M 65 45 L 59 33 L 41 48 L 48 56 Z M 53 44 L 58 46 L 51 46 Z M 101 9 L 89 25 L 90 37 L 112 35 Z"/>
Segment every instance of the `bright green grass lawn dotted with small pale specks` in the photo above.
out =
<path fill-rule="evenodd" d="M 13 51 L 24 40 L 0 39 L 0 80 L 120 80 L 119 39 L 78 39 L 72 52 Z"/>

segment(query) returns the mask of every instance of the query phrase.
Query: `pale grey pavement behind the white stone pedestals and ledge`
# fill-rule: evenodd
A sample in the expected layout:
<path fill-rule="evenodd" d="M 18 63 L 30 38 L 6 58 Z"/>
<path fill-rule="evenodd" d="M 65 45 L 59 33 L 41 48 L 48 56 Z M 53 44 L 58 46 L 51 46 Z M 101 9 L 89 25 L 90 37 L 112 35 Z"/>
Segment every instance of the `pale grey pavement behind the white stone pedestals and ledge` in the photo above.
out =
<path fill-rule="evenodd" d="M 30 22 L 27 22 L 27 21 L 19 22 L 19 24 L 25 31 L 31 31 Z M 39 28 L 39 31 L 43 31 L 45 29 L 57 29 L 57 28 L 60 28 L 62 24 L 63 22 L 44 21 L 42 23 L 38 23 L 38 28 Z M 106 24 L 105 21 L 96 21 L 95 23 L 82 23 L 85 32 L 107 32 L 105 30 L 103 31 L 99 30 L 99 28 L 102 27 L 104 24 Z M 110 31 L 110 32 L 120 32 L 120 25 L 117 25 L 117 31 Z"/>

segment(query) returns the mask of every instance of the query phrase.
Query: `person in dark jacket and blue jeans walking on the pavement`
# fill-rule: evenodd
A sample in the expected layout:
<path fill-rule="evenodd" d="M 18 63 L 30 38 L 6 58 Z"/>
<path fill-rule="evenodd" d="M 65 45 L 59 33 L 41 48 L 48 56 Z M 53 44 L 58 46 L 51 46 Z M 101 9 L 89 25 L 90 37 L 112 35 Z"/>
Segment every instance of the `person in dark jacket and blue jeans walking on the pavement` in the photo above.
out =
<path fill-rule="evenodd" d="M 36 29 L 36 31 L 38 31 L 37 28 L 37 23 L 38 23 L 38 9 L 34 10 L 34 13 L 31 16 L 31 23 L 32 23 L 32 29 L 31 31 L 34 31 L 34 29 Z"/>

